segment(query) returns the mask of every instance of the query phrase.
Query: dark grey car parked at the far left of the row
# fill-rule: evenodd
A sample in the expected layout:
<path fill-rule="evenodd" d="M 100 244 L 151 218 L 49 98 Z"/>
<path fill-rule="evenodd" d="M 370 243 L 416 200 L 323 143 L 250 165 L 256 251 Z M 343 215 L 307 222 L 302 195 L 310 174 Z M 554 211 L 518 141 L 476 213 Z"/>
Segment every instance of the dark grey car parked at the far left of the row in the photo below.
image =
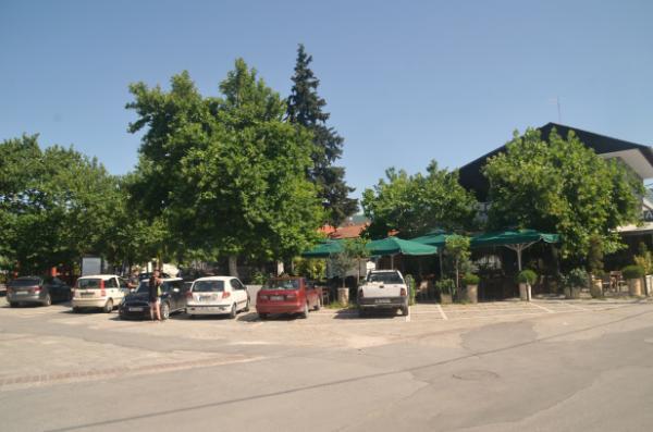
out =
<path fill-rule="evenodd" d="M 71 299 L 71 287 L 59 277 L 21 276 L 7 284 L 7 301 L 15 308 L 20 304 L 50 306 Z"/>

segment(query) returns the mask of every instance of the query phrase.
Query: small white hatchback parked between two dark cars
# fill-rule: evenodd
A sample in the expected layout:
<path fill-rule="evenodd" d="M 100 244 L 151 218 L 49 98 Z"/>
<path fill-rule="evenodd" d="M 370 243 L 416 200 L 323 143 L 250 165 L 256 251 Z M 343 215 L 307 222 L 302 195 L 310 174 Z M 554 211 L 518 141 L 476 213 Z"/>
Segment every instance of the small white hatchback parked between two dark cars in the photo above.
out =
<path fill-rule="evenodd" d="M 130 294 L 127 281 L 114 274 L 83 276 L 73 288 L 73 312 L 85 308 L 99 308 L 109 313 Z"/>

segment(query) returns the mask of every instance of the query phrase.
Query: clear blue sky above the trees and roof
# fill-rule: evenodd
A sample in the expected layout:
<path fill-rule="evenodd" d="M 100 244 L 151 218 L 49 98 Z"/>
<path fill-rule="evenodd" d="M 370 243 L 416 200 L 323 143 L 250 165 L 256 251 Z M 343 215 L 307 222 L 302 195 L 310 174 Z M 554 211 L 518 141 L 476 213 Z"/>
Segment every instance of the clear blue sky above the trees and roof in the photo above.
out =
<path fill-rule="evenodd" d="M 287 96 L 304 42 L 357 197 L 387 166 L 457 168 L 557 121 L 556 97 L 565 124 L 652 144 L 653 2 L 392 3 L 2 0 L 0 139 L 40 133 L 122 174 L 128 83 L 188 70 L 215 95 L 243 57 Z"/>

